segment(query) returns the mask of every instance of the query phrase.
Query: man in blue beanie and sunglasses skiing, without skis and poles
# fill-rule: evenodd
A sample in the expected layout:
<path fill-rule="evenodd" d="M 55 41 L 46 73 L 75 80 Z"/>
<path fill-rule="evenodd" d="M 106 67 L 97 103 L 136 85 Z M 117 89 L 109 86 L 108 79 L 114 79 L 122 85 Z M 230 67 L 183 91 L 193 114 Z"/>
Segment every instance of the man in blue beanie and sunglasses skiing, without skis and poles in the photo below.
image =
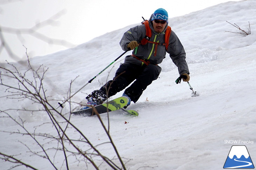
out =
<path fill-rule="evenodd" d="M 146 32 L 147 34 L 150 32 L 151 37 L 146 35 Z M 144 24 L 126 31 L 120 41 L 120 46 L 124 51 L 133 50 L 132 55 L 126 56 L 113 80 L 108 81 L 99 90 L 94 90 L 86 97 L 88 105 L 102 104 L 134 80 L 131 86 L 125 89 L 123 96 L 129 98 L 126 107 L 131 101 L 137 102 L 147 86 L 158 78 L 161 72 L 158 64 L 165 58 L 166 52 L 178 67 L 183 81 L 190 79 L 186 52 L 177 35 L 168 26 L 168 13 L 163 8 L 157 9 L 149 21 L 146 20 Z"/>

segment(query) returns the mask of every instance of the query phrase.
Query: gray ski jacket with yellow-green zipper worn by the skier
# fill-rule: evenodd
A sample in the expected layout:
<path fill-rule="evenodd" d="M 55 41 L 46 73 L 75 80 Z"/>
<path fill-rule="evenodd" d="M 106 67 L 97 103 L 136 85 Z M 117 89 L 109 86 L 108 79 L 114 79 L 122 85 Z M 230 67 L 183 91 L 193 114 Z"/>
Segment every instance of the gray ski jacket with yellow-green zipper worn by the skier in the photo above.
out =
<path fill-rule="evenodd" d="M 164 28 L 164 31 L 161 33 L 157 33 L 154 31 L 153 23 L 149 22 L 149 27 L 152 32 L 152 36 L 149 39 L 149 41 L 153 42 L 159 42 L 164 43 L 164 32 L 167 29 Z M 135 40 L 140 43 L 140 41 L 146 36 L 146 28 L 145 25 L 138 25 L 133 28 L 130 28 L 128 31 L 126 31 L 123 34 L 123 37 L 120 41 L 120 46 L 122 47 L 122 50 L 126 51 L 128 50 L 127 45 Z M 166 52 L 169 53 L 170 58 L 173 60 L 174 64 L 178 67 L 178 72 L 180 75 L 183 73 L 189 74 L 188 65 L 186 62 L 186 52 L 184 50 L 183 45 L 181 44 L 180 40 L 178 39 L 177 35 L 173 30 L 171 30 L 171 35 L 169 38 L 169 45 L 168 50 L 166 50 L 166 47 L 164 45 L 158 45 L 156 56 L 154 56 L 155 52 L 155 44 L 147 43 L 145 45 L 139 45 L 137 49 L 133 50 L 133 55 L 140 58 L 145 59 L 150 62 L 150 64 L 160 64 L 163 59 L 166 57 Z M 129 55 L 126 56 L 125 62 L 132 62 L 135 64 L 141 64 L 143 65 L 142 61 L 136 59 L 135 57 Z"/>

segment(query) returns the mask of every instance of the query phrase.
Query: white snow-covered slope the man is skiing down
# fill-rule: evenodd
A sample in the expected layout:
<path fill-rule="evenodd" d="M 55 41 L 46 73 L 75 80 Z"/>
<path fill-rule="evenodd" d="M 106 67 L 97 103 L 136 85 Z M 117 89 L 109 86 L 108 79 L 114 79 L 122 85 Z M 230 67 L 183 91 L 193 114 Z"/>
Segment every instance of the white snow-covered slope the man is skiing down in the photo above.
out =
<path fill-rule="evenodd" d="M 144 91 L 137 103 L 129 106 L 129 109 L 139 111 L 139 117 L 127 116 L 122 111 L 110 114 L 110 132 L 117 149 L 122 157 L 131 159 L 126 164 L 127 169 L 222 169 L 231 146 L 235 145 L 226 143 L 225 140 L 244 141 L 236 145 L 246 145 L 252 162 L 256 162 L 255 9 L 255 0 L 226 2 L 169 19 L 169 25 L 187 52 L 191 76 L 189 82 L 200 96 L 191 97 L 187 83 L 175 83 L 179 75 L 167 54 L 160 65 L 160 78 Z M 249 21 L 251 35 L 244 37 L 241 34 L 225 32 L 238 32 L 226 21 L 236 23 L 244 30 L 247 30 Z M 109 32 L 72 49 L 31 59 L 34 67 L 43 64 L 49 68 L 44 85 L 50 98 L 57 101 L 64 99 L 70 81 L 79 76 L 72 83 L 74 93 L 123 53 L 119 41 L 123 33 L 135 25 Z M 76 94 L 72 101 L 86 102 L 84 97 L 112 79 L 121 62 L 123 57 Z M 25 71 L 27 66 L 24 63 L 26 62 L 14 65 Z M 1 63 L 1 66 L 7 65 Z M 6 95 L 4 87 L 0 86 L 0 91 L 0 96 Z M 122 92 L 113 98 L 121 94 Z M 17 102 L 4 97 L 0 101 L 4 103 L 0 110 L 13 108 L 13 105 L 16 105 L 15 108 L 35 107 L 27 101 Z M 72 104 L 72 107 L 79 105 Z M 68 112 L 68 107 L 64 111 Z M 36 131 L 41 133 L 55 133 L 51 125 L 39 126 L 49 121 L 46 115 L 24 112 L 11 114 L 26 120 L 26 126 L 32 132 L 36 127 Z M 101 118 L 107 123 L 107 114 L 102 114 Z M 71 121 L 95 145 L 107 141 L 96 117 L 73 116 Z M 128 123 L 124 124 L 125 121 Z M 1 131 L 17 131 L 18 128 L 10 119 L 0 118 Z M 24 162 L 41 170 L 49 169 L 49 164 L 30 155 L 21 144 L 23 142 L 33 146 L 34 143 L 29 138 L 4 132 L 0 134 L 0 152 L 20 153 L 17 157 L 22 157 Z M 54 143 L 48 145 L 54 147 Z M 102 145 L 99 149 L 109 157 L 114 156 L 107 145 Z M 61 159 L 56 160 L 58 161 L 61 162 Z M 61 164 L 62 162 L 59 163 L 60 167 Z M 0 160 L 0 169 L 6 170 L 11 165 Z M 65 166 L 61 169 L 65 169 Z M 70 169 L 86 168 L 83 164 L 74 162 Z"/>

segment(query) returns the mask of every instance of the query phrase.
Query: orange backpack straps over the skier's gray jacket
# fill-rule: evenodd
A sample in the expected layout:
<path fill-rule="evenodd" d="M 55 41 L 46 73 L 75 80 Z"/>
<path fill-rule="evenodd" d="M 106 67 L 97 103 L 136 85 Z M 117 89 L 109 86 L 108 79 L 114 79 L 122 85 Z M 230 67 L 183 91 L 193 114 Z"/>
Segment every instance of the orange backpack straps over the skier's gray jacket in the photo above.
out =
<path fill-rule="evenodd" d="M 149 22 L 148 20 L 145 20 L 142 22 L 142 24 L 145 25 L 146 27 L 146 36 L 145 38 L 143 38 L 140 42 L 141 45 L 145 45 L 147 43 L 152 43 L 152 44 L 156 44 L 156 49 L 155 49 L 155 55 L 156 55 L 156 50 L 157 50 L 157 45 L 165 45 L 166 50 L 168 50 L 168 45 L 169 45 L 169 37 L 171 35 L 171 27 L 167 26 L 167 29 L 165 31 L 165 38 L 164 38 L 164 43 L 157 43 L 157 42 L 153 42 L 153 41 L 149 41 L 149 39 L 152 36 L 152 32 L 151 29 L 149 27 Z"/>

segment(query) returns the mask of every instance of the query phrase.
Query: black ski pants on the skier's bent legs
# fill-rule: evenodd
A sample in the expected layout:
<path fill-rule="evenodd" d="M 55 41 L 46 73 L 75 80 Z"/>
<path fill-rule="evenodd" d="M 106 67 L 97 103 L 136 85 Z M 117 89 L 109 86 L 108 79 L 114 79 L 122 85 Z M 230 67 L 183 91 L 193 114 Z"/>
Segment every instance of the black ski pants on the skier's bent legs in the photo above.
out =
<path fill-rule="evenodd" d="M 125 89 L 129 84 L 134 82 L 124 91 L 135 103 L 142 95 L 152 81 L 156 80 L 161 72 L 161 67 L 153 64 L 138 65 L 126 62 L 121 64 L 115 73 L 113 80 L 108 81 L 100 88 L 100 92 L 106 94 L 107 98 L 115 95 Z M 106 98 L 106 99 L 107 99 Z"/>

